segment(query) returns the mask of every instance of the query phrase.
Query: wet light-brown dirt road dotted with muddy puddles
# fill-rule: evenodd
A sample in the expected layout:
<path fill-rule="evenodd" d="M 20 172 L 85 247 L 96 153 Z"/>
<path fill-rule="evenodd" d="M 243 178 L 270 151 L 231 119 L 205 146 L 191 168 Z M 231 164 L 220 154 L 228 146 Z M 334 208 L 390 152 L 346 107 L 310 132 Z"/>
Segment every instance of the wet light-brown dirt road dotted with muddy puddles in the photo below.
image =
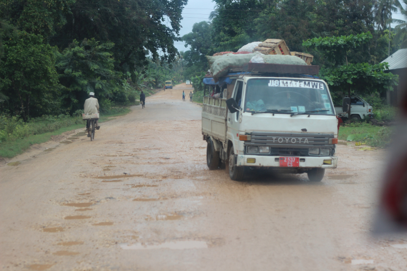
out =
<path fill-rule="evenodd" d="M 321 183 L 234 182 L 208 170 L 201 107 L 182 90 L 101 124 L 93 142 L 77 130 L 1 166 L 1 270 L 407 269 L 392 246 L 405 235 L 370 235 L 383 150 L 338 145 Z"/>

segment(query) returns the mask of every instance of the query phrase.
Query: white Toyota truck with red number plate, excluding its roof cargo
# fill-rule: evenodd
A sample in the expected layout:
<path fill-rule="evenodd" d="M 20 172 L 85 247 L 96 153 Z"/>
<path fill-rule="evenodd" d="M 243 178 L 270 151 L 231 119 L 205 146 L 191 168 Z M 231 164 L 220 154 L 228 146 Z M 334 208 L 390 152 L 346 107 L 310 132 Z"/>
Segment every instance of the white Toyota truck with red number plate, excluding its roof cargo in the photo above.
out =
<path fill-rule="evenodd" d="M 296 65 L 249 63 L 250 73 L 203 80 L 209 169 L 224 164 L 241 180 L 245 167 L 276 168 L 319 182 L 326 168 L 336 168 L 338 120 L 328 85 L 299 75 L 317 74 L 318 66 L 289 66 Z"/>

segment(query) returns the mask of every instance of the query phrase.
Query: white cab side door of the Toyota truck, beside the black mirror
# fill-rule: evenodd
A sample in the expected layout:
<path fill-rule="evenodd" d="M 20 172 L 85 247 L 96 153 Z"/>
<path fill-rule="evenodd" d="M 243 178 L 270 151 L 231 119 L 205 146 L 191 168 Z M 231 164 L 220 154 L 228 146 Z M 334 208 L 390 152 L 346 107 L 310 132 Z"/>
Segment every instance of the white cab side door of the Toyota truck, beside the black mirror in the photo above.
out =
<path fill-rule="evenodd" d="M 238 103 L 239 107 L 242 108 L 242 98 L 243 98 L 243 80 L 238 80 L 235 85 L 235 91 L 232 97 Z M 237 154 L 237 146 L 239 142 L 239 114 L 240 112 L 227 113 L 227 137 L 232 139 L 233 145 L 235 147 L 235 154 Z"/>

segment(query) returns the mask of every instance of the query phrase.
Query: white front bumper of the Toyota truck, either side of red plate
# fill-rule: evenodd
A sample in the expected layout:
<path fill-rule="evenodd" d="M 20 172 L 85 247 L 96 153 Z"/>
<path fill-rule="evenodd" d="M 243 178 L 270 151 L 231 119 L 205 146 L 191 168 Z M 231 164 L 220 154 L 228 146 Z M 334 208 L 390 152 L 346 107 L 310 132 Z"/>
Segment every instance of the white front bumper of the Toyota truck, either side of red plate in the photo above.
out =
<path fill-rule="evenodd" d="M 338 164 L 338 157 L 299 157 L 299 168 L 336 168 Z M 254 163 L 248 163 L 247 159 Z M 331 163 L 331 164 L 328 164 Z M 280 167 L 279 156 L 257 156 L 257 155 L 238 155 L 237 166 L 251 166 L 251 167 Z"/>

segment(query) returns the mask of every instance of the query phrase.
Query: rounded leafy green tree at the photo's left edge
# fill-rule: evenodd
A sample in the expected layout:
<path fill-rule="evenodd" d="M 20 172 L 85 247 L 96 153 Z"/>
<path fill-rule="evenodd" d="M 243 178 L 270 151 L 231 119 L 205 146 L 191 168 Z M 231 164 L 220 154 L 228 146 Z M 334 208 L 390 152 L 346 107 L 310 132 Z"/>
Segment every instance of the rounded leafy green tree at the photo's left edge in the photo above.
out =
<path fill-rule="evenodd" d="M 2 33 L 4 55 L 0 62 L 0 93 L 9 97 L 5 107 L 13 114 L 30 116 L 61 112 L 60 87 L 51 46 L 40 35 Z"/>

